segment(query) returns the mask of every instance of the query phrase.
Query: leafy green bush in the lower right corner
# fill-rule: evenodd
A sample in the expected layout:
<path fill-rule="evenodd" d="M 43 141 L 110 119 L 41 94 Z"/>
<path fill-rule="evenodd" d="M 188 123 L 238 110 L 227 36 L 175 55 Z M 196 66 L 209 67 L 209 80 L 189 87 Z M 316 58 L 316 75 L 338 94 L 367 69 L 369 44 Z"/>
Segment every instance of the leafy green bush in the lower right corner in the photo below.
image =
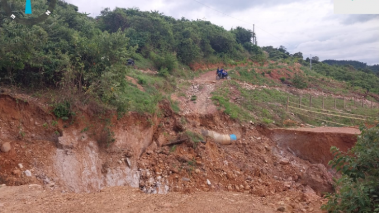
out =
<path fill-rule="evenodd" d="M 379 125 L 361 128 L 357 144 L 347 153 L 332 147 L 332 168 L 342 173 L 337 192 L 322 208 L 331 213 L 379 212 Z"/>

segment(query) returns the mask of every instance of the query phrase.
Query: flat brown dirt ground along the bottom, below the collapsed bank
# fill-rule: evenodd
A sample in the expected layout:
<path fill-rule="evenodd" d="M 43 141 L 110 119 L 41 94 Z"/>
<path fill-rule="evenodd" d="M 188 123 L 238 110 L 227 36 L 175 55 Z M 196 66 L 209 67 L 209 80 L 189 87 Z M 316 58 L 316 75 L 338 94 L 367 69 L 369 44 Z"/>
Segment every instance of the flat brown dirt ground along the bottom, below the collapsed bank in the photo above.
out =
<path fill-rule="evenodd" d="M 288 192 L 257 197 L 232 192 L 149 195 L 130 187 L 105 188 L 100 193 L 75 194 L 39 186 L 1 187 L 0 212 L 277 212 Z M 300 194 L 298 196 L 301 196 Z M 17 198 L 16 198 L 17 197 Z M 16 199 L 15 199 L 16 198 Z M 301 198 L 301 197 L 300 197 Z M 315 202 L 312 212 L 320 212 Z M 311 206 L 309 206 L 311 207 Z"/>

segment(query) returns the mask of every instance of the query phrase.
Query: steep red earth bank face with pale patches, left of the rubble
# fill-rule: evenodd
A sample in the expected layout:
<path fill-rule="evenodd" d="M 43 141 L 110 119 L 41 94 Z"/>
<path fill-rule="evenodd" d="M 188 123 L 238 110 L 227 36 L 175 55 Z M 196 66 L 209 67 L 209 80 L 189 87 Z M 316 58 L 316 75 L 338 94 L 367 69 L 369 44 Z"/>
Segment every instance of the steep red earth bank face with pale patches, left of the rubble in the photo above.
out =
<path fill-rule="evenodd" d="M 11 149 L 0 153 L 0 182 L 8 186 L 37 183 L 72 192 L 140 187 L 142 154 L 148 148 L 149 153 L 157 151 L 186 129 L 167 101 L 159 108 L 159 117 L 129 113 L 117 119 L 87 106 L 62 121 L 36 99 L 1 94 L 0 145 L 10 143 Z M 199 128 L 226 120 L 226 116 L 195 116 L 184 122 L 189 128 Z M 168 190 L 166 180 L 160 181 L 165 188 L 160 193 Z M 160 182 L 153 182 L 149 189 L 156 193 Z"/>

